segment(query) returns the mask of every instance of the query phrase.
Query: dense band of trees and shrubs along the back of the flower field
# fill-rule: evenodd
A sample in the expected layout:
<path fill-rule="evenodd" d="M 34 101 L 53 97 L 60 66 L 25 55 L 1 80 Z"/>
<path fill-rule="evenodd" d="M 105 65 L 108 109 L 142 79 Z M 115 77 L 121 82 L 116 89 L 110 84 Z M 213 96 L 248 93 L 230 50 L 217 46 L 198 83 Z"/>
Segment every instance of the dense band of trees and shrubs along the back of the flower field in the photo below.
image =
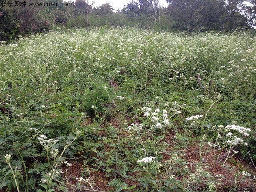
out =
<path fill-rule="evenodd" d="M 24 1 L 15 1 L 20 2 L 18 6 L 9 2 L 12 1 L 0 0 L 0 41 L 45 32 L 58 25 L 85 27 L 87 13 L 89 27 L 139 26 L 202 32 L 245 30 L 256 24 L 255 0 L 166 0 L 168 7 L 161 7 L 158 0 L 138 0 L 129 2 L 116 13 L 110 3 L 93 7 L 86 0 L 65 4 L 61 4 L 62 0 L 26 0 L 26 5 L 22 4 Z"/>

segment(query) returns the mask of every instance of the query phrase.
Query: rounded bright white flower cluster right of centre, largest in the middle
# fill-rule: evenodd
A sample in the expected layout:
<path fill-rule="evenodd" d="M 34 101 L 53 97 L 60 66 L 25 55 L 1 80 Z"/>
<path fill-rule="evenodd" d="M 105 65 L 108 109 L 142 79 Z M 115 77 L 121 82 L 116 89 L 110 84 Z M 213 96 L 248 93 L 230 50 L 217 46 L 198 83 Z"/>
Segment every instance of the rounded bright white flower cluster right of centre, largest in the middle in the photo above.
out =
<path fill-rule="evenodd" d="M 145 111 L 144 116 L 148 117 L 155 123 L 155 128 L 161 129 L 163 126 L 169 125 L 167 110 L 161 111 L 160 109 L 152 110 L 152 108 L 142 108 L 142 111 Z M 178 113 L 178 112 L 177 112 Z"/>

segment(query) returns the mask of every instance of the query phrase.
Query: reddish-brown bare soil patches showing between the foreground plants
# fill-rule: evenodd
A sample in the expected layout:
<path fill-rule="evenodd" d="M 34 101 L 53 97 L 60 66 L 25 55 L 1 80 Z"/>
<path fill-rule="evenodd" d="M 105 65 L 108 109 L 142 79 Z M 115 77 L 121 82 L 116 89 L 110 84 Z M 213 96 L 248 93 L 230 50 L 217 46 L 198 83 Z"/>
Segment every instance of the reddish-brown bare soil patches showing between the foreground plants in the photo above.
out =
<path fill-rule="evenodd" d="M 87 124 L 93 123 L 92 119 L 87 119 L 86 122 L 84 122 L 84 126 Z M 119 128 L 120 123 L 116 120 L 112 120 L 111 125 L 113 125 L 116 128 Z M 120 129 L 122 132 L 122 137 L 128 137 L 128 134 L 126 131 L 123 131 Z M 104 136 L 106 132 L 104 129 L 99 133 L 101 136 Z M 172 146 L 175 146 L 175 143 L 173 142 L 173 137 L 175 136 L 174 131 L 170 131 L 169 134 L 166 135 L 165 141 L 168 143 L 171 147 L 169 148 L 169 152 L 162 153 L 163 155 L 163 160 L 169 160 L 171 155 L 170 153 L 172 152 Z M 190 166 L 192 167 L 192 172 L 195 170 L 195 164 L 199 163 L 199 144 L 194 143 L 194 144 L 189 144 L 189 147 L 181 150 L 184 155 L 184 159 L 188 160 L 190 163 Z M 105 148 L 106 151 L 109 150 L 108 146 Z M 214 159 L 216 156 L 218 156 L 218 153 L 212 152 L 213 149 L 210 149 L 208 151 L 207 148 L 204 148 L 204 153 L 202 155 L 202 158 L 204 159 L 202 165 L 207 164 L 209 165 L 210 168 L 205 168 L 208 172 L 210 172 L 212 175 L 217 176 L 221 175 L 220 181 L 223 183 L 221 186 L 234 186 L 235 184 L 235 176 L 236 174 L 241 171 L 241 170 L 247 170 L 247 172 L 250 172 L 252 175 L 256 175 L 256 170 L 252 167 L 247 167 L 246 163 L 243 163 L 239 161 L 236 156 L 232 157 L 231 159 L 233 162 L 239 162 L 238 164 L 234 164 L 231 161 L 227 160 L 225 163 L 226 166 L 221 166 L 220 163 L 214 163 L 216 162 Z M 208 152 L 207 152 L 208 151 Z M 67 168 L 67 180 L 70 183 L 70 185 L 76 185 L 78 184 L 78 180 L 76 178 L 80 177 L 81 175 L 84 176 L 84 178 L 89 178 L 89 183 L 92 184 L 93 189 L 95 191 L 104 191 L 104 192 L 109 192 L 109 191 L 114 191 L 111 187 L 108 186 L 108 182 L 110 181 L 104 172 L 100 170 L 90 170 L 90 174 L 88 172 L 86 173 L 85 170 L 83 169 L 83 159 L 81 157 L 77 157 L 76 159 L 70 159 L 67 160 L 69 163 L 72 163 L 72 166 Z M 65 173 L 66 172 L 66 166 L 62 166 L 62 171 Z M 85 175 L 86 174 L 86 175 Z M 141 175 L 138 174 L 137 172 L 131 173 L 134 177 L 140 177 Z M 248 177 L 247 177 L 248 178 Z M 251 177 L 251 179 L 253 176 Z M 180 179 L 184 179 L 181 178 Z M 242 181 L 242 175 L 239 175 L 239 177 L 236 179 L 236 186 L 239 187 L 256 187 L 256 181 L 251 180 L 251 181 Z M 124 180 L 125 183 L 128 184 L 128 186 L 133 186 L 136 185 L 139 187 L 139 183 L 134 182 L 133 180 Z M 69 189 L 69 192 L 80 192 L 77 191 L 75 187 L 67 185 L 66 187 Z M 93 191 L 90 185 L 87 182 L 81 183 L 81 186 L 85 186 L 86 189 L 83 189 L 81 191 Z M 139 188 L 137 188 L 139 189 Z M 5 192 L 4 190 L 0 190 L 0 192 Z"/>

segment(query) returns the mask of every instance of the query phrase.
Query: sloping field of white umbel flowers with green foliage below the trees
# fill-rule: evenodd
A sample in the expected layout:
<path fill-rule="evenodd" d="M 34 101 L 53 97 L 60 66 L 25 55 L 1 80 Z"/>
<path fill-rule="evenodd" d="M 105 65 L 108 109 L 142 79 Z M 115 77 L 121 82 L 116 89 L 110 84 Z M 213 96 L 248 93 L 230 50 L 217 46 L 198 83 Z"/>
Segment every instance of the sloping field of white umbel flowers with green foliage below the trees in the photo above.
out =
<path fill-rule="evenodd" d="M 0 42 L 0 109 L 0 191 L 256 187 L 249 32 L 57 29 Z"/>

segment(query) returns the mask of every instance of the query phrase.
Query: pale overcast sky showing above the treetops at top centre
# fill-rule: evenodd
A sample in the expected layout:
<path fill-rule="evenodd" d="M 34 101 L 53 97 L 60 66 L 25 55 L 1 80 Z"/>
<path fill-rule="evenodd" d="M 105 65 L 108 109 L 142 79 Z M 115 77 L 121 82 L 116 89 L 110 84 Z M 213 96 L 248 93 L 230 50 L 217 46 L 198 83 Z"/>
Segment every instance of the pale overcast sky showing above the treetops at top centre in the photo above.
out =
<path fill-rule="evenodd" d="M 136 1 L 136 0 L 135 0 Z M 165 0 L 158 0 L 161 6 L 166 7 L 168 3 L 166 3 Z M 127 5 L 128 2 L 131 2 L 131 0 L 89 0 L 89 4 L 93 3 L 93 7 L 101 6 L 104 3 L 109 2 L 111 6 L 113 7 L 114 11 L 117 9 L 123 9 L 124 5 Z"/>

